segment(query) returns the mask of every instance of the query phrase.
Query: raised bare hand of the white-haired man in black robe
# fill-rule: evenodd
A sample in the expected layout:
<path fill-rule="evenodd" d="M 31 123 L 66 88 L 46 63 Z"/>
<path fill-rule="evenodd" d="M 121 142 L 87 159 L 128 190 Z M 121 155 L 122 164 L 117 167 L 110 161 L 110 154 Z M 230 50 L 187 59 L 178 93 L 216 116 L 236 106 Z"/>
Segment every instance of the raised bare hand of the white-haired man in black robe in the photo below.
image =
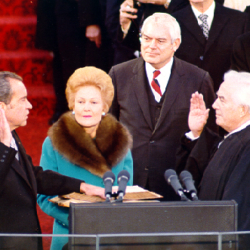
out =
<path fill-rule="evenodd" d="M 190 110 L 188 115 L 188 126 L 195 137 L 200 136 L 207 123 L 209 109 L 203 100 L 203 95 L 195 92 L 190 99 Z"/>

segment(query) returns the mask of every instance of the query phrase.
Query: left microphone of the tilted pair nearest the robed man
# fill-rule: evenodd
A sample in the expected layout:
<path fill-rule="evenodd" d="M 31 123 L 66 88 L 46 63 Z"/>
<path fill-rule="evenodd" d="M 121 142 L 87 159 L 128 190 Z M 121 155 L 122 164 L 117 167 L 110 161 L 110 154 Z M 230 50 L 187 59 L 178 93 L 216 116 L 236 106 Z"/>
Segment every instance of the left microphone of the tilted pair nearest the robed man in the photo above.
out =
<path fill-rule="evenodd" d="M 174 189 L 182 201 L 190 201 L 184 194 L 183 188 L 179 182 L 178 176 L 173 169 L 167 169 L 164 174 L 166 182 Z"/>

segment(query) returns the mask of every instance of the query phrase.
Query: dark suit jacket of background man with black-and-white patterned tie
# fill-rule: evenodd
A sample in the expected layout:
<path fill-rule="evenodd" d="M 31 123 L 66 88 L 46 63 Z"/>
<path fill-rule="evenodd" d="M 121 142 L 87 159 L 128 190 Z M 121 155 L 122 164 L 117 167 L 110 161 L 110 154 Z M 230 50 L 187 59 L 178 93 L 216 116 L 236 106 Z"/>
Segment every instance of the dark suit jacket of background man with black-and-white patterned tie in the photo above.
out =
<path fill-rule="evenodd" d="M 247 30 L 248 15 L 216 3 L 214 20 L 206 41 L 190 6 L 172 14 L 181 26 L 182 43 L 176 56 L 206 70 L 218 90 L 230 68 L 233 43 Z"/>

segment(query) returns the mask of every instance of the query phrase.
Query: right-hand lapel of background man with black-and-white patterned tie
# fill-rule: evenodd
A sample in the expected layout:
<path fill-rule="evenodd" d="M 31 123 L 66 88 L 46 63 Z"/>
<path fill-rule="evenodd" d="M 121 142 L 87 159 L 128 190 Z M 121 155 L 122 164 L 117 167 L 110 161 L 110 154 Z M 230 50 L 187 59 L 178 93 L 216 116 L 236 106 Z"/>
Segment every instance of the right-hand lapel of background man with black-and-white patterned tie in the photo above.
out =
<path fill-rule="evenodd" d="M 224 28 L 228 22 L 229 17 L 224 14 L 223 7 L 219 4 L 216 4 L 214 11 L 214 19 L 209 31 L 209 38 L 207 40 L 205 53 L 213 45 L 214 41 L 221 35 L 221 30 Z"/>

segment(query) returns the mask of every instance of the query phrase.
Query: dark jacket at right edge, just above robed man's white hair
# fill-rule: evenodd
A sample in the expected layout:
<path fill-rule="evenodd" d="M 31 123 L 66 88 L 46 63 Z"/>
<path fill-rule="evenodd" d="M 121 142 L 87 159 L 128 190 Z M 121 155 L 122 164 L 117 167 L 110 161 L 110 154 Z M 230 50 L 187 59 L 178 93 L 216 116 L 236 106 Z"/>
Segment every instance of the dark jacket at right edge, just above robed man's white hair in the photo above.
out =
<path fill-rule="evenodd" d="M 250 32 L 237 37 L 231 61 L 231 69 L 250 72 Z"/>

